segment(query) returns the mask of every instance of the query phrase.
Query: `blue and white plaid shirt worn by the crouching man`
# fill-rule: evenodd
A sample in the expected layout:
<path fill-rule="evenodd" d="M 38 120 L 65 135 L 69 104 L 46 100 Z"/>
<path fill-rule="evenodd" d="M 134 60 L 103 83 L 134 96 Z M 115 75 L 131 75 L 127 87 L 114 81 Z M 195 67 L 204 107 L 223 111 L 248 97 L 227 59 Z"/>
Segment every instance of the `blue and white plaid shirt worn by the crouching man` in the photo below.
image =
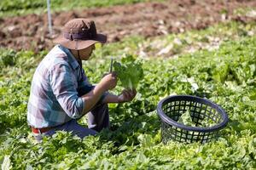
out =
<path fill-rule="evenodd" d="M 38 65 L 27 105 L 32 127 L 55 127 L 83 116 L 84 99 L 94 88 L 67 48 L 56 45 Z M 102 96 L 103 97 L 103 96 Z"/>

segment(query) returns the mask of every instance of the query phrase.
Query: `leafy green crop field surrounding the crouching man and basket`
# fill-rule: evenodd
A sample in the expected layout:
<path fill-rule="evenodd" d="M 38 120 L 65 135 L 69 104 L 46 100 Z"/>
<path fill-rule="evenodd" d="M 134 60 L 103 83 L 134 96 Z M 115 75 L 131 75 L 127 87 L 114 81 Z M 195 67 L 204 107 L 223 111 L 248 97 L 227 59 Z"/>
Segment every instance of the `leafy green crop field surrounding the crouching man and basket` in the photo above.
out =
<path fill-rule="evenodd" d="M 143 59 L 145 77 L 138 85 L 136 99 L 129 104 L 109 105 L 111 130 L 85 139 L 59 132 L 53 138 L 44 138 L 42 144 L 35 143 L 26 124 L 26 105 L 32 74 L 47 51 L 35 54 L 2 48 L 2 168 L 256 168 L 255 26 L 254 22 L 231 22 L 204 31 L 150 39 L 127 37 L 122 42 L 97 46 L 92 58 L 83 64 L 93 83 L 108 71 L 111 56 L 119 60 L 132 54 Z M 192 83 L 199 88 L 193 88 Z M 121 89 L 119 84 L 114 93 Z M 206 95 L 221 105 L 230 118 L 222 136 L 207 144 L 162 144 L 155 109 L 160 99 L 171 94 Z M 80 122 L 86 124 L 85 117 Z"/>

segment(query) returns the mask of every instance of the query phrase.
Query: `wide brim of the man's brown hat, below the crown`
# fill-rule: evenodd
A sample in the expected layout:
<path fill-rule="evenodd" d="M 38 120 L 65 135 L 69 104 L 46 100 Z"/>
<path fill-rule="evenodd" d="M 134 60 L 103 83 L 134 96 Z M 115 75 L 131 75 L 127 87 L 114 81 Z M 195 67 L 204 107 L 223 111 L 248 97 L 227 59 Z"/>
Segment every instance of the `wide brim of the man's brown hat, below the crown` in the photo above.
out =
<path fill-rule="evenodd" d="M 96 42 L 106 43 L 107 36 L 104 34 L 97 34 L 96 38 L 93 38 L 90 40 L 73 40 L 73 41 L 71 41 L 71 40 L 63 37 L 63 35 L 60 35 L 59 37 L 56 37 L 53 40 L 53 42 L 57 43 L 57 44 L 61 44 L 65 48 L 80 50 L 80 49 L 88 48 L 91 45 L 95 44 Z"/>

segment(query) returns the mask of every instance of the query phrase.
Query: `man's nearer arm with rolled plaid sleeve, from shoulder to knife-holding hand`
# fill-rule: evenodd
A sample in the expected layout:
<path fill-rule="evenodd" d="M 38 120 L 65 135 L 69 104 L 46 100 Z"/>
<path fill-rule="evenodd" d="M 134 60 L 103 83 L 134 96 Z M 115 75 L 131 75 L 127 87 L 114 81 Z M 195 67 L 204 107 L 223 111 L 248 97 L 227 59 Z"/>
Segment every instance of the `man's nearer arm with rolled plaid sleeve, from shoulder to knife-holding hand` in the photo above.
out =
<path fill-rule="evenodd" d="M 117 78 L 113 74 L 108 74 L 89 94 L 79 97 L 77 89 L 73 85 L 71 71 L 69 65 L 65 63 L 55 65 L 49 75 L 50 86 L 67 115 L 79 118 L 96 105 L 105 91 L 116 86 Z"/>

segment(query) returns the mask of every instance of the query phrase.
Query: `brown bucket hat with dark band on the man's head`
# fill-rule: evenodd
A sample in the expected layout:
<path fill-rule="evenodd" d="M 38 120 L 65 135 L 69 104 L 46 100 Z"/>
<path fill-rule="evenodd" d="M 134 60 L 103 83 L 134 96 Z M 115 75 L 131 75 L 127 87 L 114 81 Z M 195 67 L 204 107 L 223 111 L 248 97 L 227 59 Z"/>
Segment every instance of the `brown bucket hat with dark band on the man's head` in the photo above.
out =
<path fill-rule="evenodd" d="M 79 18 L 68 21 L 62 29 L 62 34 L 53 42 L 69 49 L 80 50 L 96 42 L 107 42 L 107 36 L 97 33 L 93 20 Z"/>

